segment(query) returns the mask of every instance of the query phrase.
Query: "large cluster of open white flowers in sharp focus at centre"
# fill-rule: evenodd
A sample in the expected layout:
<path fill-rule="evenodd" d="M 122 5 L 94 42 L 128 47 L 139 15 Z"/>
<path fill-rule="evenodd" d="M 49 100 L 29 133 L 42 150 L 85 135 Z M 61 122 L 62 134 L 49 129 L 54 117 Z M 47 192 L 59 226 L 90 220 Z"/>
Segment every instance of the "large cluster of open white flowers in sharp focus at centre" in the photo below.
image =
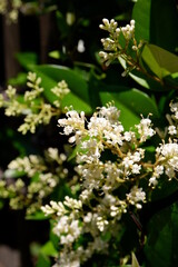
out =
<path fill-rule="evenodd" d="M 177 107 L 171 105 L 171 111 L 177 112 Z M 141 118 L 139 125 L 125 131 L 116 107 L 108 105 L 98 108 L 89 121 L 85 112 L 71 109 L 67 118 L 58 120 L 69 142 L 77 145 L 75 169 L 81 187 L 77 199 L 66 197 L 63 202 L 51 201 L 42 207 L 47 216 L 56 218 L 53 231 L 61 245 L 55 267 L 80 266 L 93 254 L 109 253 L 112 237 L 117 241 L 119 236 L 123 214 L 141 209 L 147 192 L 162 175 L 176 177 L 176 139 L 158 145 L 152 161 L 146 161 L 145 142 L 156 135 L 150 118 Z M 107 233 L 110 238 L 105 239 Z M 90 241 L 82 244 L 81 236 L 86 235 L 90 235 Z"/>

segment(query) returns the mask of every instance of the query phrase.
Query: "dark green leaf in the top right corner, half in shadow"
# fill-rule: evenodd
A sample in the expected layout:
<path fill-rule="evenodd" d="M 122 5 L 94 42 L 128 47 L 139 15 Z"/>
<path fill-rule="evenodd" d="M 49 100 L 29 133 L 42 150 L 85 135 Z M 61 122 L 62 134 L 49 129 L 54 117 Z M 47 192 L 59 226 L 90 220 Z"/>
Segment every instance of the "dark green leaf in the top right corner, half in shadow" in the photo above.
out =
<path fill-rule="evenodd" d="M 134 7 L 137 40 L 146 40 L 169 51 L 178 43 L 178 16 L 174 0 L 138 0 Z"/>

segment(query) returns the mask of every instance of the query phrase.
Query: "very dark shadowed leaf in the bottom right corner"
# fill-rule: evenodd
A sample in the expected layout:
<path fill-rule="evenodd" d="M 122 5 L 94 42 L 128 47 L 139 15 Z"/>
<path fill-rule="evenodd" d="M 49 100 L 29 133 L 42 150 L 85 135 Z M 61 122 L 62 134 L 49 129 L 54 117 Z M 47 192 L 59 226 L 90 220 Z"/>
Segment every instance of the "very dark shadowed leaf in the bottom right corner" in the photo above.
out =
<path fill-rule="evenodd" d="M 149 267 L 172 267 L 178 263 L 178 205 L 161 210 L 148 225 L 145 255 Z"/>

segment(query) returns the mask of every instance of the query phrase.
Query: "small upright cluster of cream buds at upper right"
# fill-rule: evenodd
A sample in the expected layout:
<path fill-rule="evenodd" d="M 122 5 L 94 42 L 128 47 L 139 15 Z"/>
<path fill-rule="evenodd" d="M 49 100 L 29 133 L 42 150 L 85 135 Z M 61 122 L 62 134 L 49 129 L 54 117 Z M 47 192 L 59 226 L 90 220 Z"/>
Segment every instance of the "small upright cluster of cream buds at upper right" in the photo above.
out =
<path fill-rule="evenodd" d="M 103 50 L 100 51 L 102 62 L 109 66 L 115 59 L 123 59 L 128 68 L 125 72 L 137 68 L 140 49 L 142 41 L 137 41 L 135 38 L 135 20 L 130 21 L 130 24 L 126 27 L 118 27 L 118 22 L 111 19 L 102 19 L 103 24 L 100 24 L 100 29 L 108 31 L 109 37 L 101 39 Z M 128 49 L 132 52 L 128 52 Z M 123 73 L 125 73 L 123 72 Z"/>

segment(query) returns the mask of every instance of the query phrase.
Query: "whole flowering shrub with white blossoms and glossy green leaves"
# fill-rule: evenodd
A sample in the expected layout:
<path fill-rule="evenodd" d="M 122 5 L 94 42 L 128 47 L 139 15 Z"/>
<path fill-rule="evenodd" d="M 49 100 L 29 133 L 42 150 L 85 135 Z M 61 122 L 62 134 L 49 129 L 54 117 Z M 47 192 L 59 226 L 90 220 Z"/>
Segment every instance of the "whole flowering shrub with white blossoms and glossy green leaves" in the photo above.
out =
<path fill-rule="evenodd" d="M 60 134 L 56 147 L 12 159 L 0 180 L 2 202 L 50 221 L 37 267 L 178 261 L 177 42 L 164 42 L 166 32 L 154 42 L 142 9 L 139 0 L 122 27 L 102 20 L 101 76 L 93 68 L 34 65 L 24 92 L 8 86 L 0 95 L 6 116 L 22 116 L 23 136 L 48 131 L 53 120 Z M 111 82 L 108 70 L 119 65 L 123 71 Z"/>

